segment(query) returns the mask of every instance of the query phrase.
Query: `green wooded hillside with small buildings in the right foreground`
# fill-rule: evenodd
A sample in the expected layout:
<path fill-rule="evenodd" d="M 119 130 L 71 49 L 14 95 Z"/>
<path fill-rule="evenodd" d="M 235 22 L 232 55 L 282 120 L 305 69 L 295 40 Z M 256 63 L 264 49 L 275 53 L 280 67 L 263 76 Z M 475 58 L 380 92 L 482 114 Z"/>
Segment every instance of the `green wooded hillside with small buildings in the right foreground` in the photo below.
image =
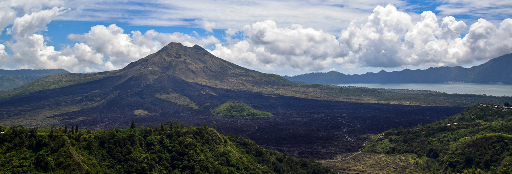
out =
<path fill-rule="evenodd" d="M 391 130 L 365 152 L 416 154 L 431 173 L 511 173 L 512 108 L 478 104 L 430 125 Z"/>

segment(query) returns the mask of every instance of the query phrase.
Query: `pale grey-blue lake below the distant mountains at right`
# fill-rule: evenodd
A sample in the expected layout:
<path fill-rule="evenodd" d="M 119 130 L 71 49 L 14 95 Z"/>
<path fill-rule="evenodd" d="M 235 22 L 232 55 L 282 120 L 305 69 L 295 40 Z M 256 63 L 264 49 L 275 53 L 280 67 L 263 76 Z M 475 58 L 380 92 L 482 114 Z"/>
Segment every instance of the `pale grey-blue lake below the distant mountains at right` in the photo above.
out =
<path fill-rule="evenodd" d="M 338 86 L 361 86 L 385 89 L 433 90 L 446 93 L 470 93 L 495 96 L 512 96 L 512 84 L 476 83 L 394 83 L 394 84 L 336 84 Z"/>

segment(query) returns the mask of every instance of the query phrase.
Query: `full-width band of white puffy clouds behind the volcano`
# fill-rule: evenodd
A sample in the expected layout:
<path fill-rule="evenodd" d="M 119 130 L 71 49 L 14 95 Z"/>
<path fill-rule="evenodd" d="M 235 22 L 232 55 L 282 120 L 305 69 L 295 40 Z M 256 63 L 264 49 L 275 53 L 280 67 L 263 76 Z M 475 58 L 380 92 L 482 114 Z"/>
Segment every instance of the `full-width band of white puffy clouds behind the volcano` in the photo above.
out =
<path fill-rule="evenodd" d="M 397 4 L 402 6 L 400 2 Z M 0 43 L 0 68 L 114 70 L 158 51 L 169 42 L 214 45 L 210 50 L 214 55 L 266 72 L 458 66 L 512 52 L 510 18 L 496 25 L 482 18 L 466 24 L 453 16 L 439 17 L 431 11 L 420 15 L 402 12 L 393 5 L 373 6 L 366 18 L 356 18 L 345 27 L 339 24 L 338 32 L 334 33 L 331 27 L 324 31 L 310 27 L 311 23 L 304 27 L 302 23 L 280 22 L 281 19 L 255 21 L 240 27 L 239 23 L 229 25 L 228 20 L 221 22 L 204 16 L 191 21 L 207 31 L 204 36 L 155 30 L 124 31 L 116 24 L 98 24 L 87 33 L 69 34 L 67 38 L 76 43 L 56 50 L 48 42 L 51 38 L 41 31 L 48 30 L 46 26 L 52 20 L 80 13 L 80 8 L 66 5 L 67 2 L 51 0 L 41 4 L 0 3 L 0 30 L 12 36 L 11 40 Z M 218 28 L 225 29 L 224 38 L 212 34 Z"/>

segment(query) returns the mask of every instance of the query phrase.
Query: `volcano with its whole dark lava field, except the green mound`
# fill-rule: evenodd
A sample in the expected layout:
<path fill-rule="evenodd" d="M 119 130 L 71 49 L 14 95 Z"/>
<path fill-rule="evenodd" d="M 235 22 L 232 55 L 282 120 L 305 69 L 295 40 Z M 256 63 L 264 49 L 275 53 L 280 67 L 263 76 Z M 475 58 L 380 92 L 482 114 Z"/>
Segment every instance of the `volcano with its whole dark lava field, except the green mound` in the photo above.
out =
<path fill-rule="evenodd" d="M 267 148 L 325 159 L 357 151 L 368 139 L 362 135 L 434 122 L 463 109 L 343 102 L 322 88 L 240 67 L 199 45 L 169 43 L 119 70 L 56 74 L 3 91 L 0 124 L 109 129 L 130 127 L 132 120 L 144 127 L 180 121 L 216 125 L 220 133 L 245 136 Z M 210 112 L 229 100 L 274 116 L 230 118 Z"/>

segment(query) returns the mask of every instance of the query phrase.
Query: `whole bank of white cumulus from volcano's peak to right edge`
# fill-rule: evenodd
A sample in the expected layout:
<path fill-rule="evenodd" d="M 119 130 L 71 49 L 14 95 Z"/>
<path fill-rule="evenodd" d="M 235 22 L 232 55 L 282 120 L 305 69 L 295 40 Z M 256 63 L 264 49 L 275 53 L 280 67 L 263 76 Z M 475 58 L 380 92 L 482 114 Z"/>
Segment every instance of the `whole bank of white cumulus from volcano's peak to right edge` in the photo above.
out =
<path fill-rule="evenodd" d="M 419 21 L 394 6 L 377 6 L 366 22 L 334 35 L 296 24 L 279 28 L 256 22 L 240 32 L 243 40 L 216 44 L 212 52 L 228 61 L 265 70 L 319 71 L 341 67 L 457 66 L 512 52 L 512 19 L 499 26 L 479 19 L 467 25 L 452 16 L 441 20 L 423 12 Z"/>

